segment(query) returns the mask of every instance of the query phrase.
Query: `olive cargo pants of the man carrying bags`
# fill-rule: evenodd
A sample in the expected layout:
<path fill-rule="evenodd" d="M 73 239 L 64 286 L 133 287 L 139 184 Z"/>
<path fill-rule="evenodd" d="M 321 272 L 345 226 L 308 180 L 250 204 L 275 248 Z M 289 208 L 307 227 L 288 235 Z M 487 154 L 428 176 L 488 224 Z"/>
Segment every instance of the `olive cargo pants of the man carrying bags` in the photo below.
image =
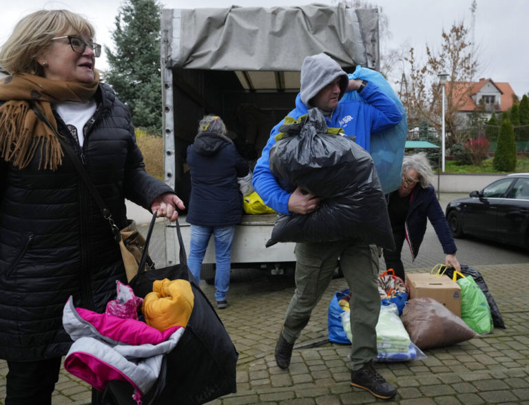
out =
<path fill-rule="evenodd" d="M 295 292 L 284 318 L 284 339 L 295 342 L 307 326 L 312 310 L 329 287 L 340 258 L 342 273 L 351 289 L 351 369 L 361 368 L 378 354 L 375 331 L 380 313 L 377 247 L 357 239 L 297 243 L 295 258 Z"/>

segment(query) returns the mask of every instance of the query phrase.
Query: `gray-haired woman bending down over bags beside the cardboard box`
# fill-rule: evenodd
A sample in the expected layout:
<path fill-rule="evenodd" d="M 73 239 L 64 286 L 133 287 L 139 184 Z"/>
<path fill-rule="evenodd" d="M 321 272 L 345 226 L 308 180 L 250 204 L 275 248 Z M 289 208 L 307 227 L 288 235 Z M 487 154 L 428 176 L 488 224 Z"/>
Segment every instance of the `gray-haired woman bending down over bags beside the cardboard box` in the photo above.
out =
<path fill-rule="evenodd" d="M 435 189 L 431 185 L 432 180 L 432 167 L 424 152 L 406 155 L 402 162 L 402 183 L 399 189 L 386 195 L 395 250 L 384 249 L 384 261 L 386 269 L 395 270 L 395 276 L 402 280 L 406 280 L 400 258 L 404 239 L 410 246 L 412 260 L 415 260 L 426 232 L 426 218 L 433 225 L 446 254 L 445 264 L 460 270 L 459 262 L 455 258 L 457 247 L 435 195 Z"/>

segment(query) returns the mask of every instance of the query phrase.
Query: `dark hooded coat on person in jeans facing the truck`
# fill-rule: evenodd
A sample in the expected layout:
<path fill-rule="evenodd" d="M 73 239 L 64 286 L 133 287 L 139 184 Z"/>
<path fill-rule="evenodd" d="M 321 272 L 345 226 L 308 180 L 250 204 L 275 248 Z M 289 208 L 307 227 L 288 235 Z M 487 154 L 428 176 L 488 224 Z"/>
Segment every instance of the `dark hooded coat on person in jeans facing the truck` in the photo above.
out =
<path fill-rule="evenodd" d="M 191 169 L 191 197 L 187 222 L 203 227 L 235 225 L 242 216 L 238 177 L 249 172 L 248 163 L 226 136 L 200 132 L 187 148 Z"/>

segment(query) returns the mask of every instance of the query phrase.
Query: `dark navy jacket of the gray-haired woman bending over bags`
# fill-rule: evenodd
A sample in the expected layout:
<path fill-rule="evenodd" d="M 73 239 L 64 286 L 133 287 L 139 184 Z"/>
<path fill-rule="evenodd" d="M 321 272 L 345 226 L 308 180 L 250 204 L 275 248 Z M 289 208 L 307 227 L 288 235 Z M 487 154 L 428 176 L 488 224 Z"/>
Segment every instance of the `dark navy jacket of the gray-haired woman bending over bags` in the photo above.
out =
<path fill-rule="evenodd" d="M 397 193 L 398 191 L 393 192 Z M 389 194 L 386 195 L 387 200 L 388 198 Z M 443 209 L 439 205 L 439 201 L 435 195 L 433 185 L 428 185 L 426 189 L 417 185 L 411 192 L 410 207 L 408 208 L 406 223 L 404 224 L 406 240 L 408 241 L 408 245 L 410 245 L 413 260 L 415 260 L 419 253 L 419 247 L 426 232 L 426 218 L 433 225 L 433 229 L 437 233 L 437 238 L 439 238 L 439 242 L 441 242 L 443 247 L 444 254 L 455 254 L 457 247 L 455 246 L 452 233 L 448 228 L 448 222 L 446 222 Z"/>

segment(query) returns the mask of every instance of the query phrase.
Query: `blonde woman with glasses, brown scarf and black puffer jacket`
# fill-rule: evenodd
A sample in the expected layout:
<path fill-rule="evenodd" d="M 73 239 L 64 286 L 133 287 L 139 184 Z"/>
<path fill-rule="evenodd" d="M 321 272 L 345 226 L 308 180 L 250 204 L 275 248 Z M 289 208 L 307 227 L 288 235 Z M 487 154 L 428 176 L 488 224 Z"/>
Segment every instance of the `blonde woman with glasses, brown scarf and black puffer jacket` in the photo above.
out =
<path fill-rule="evenodd" d="M 118 228 L 125 198 L 174 221 L 174 191 L 145 172 L 127 107 L 99 81 L 101 45 L 83 17 L 41 10 L 0 50 L 0 358 L 6 405 L 50 404 L 72 343 L 63 307 L 98 313 L 127 282 L 110 224 L 36 105 L 70 145 Z"/>

